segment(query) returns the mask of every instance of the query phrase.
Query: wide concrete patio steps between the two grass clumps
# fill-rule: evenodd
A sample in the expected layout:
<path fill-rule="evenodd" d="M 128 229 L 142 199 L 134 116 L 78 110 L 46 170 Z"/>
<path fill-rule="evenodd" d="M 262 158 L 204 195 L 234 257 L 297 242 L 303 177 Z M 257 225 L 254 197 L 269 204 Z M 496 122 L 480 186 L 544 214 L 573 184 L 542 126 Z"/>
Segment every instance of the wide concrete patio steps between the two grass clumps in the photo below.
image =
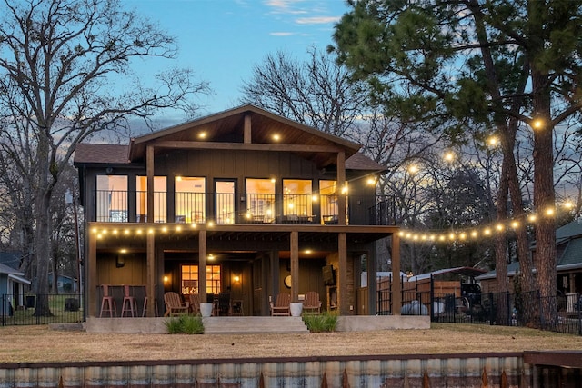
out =
<path fill-rule="evenodd" d="M 206 334 L 309 333 L 298 316 L 211 316 L 202 322 Z"/>

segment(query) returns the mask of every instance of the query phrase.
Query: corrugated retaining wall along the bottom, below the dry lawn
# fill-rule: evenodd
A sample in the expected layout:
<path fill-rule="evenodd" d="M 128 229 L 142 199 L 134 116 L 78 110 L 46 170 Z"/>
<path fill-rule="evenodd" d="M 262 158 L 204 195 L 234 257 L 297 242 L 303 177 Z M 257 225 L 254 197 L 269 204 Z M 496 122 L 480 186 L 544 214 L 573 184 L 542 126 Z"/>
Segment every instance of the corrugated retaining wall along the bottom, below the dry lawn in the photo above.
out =
<path fill-rule="evenodd" d="M 424 387 L 532 386 L 522 353 L 0 364 L 13 387 Z M 220 382 L 220 383 L 218 383 Z M 59 385 L 62 383 L 62 385 Z"/>

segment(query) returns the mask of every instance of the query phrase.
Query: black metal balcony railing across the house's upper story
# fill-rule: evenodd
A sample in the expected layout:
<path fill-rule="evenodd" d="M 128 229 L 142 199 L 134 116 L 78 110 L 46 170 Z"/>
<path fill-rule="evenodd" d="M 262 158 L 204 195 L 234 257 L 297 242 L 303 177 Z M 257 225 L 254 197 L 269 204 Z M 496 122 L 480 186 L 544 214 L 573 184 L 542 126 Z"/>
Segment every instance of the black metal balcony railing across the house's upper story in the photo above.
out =
<path fill-rule="evenodd" d="M 154 215 L 146 192 L 97 190 L 95 215 L 101 223 L 338 224 L 337 195 L 154 193 Z M 90 214 L 90 213 L 88 213 Z M 391 196 L 346 197 L 346 224 L 394 224 Z"/>

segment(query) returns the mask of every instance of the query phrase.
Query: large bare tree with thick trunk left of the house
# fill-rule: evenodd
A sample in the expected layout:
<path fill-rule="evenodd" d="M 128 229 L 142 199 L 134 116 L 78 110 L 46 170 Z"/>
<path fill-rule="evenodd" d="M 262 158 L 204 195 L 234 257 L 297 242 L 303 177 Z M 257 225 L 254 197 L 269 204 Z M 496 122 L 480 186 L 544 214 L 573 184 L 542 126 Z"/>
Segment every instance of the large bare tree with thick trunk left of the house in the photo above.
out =
<path fill-rule="evenodd" d="M 132 61 L 174 58 L 176 42 L 118 0 L 5 0 L 0 15 L 0 150 L 30 190 L 35 315 L 49 315 L 50 206 L 76 144 L 132 117 L 151 124 L 160 109 L 192 112 L 189 98 L 207 85 L 187 69 L 141 85 Z"/>

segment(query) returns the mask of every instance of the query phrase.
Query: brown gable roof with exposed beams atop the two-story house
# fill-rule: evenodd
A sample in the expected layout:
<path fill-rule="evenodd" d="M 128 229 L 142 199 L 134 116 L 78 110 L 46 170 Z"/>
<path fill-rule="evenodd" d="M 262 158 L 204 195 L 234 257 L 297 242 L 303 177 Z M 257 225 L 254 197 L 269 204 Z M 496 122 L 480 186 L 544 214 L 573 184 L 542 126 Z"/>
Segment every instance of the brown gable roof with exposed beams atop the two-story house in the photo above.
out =
<path fill-rule="evenodd" d="M 184 124 L 171 126 L 153 134 L 132 138 L 129 145 L 123 144 L 77 144 L 74 164 L 129 164 L 145 160 L 146 146 L 149 144 L 172 147 L 174 142 L 200 143 L 199 134 L 205 133 L 205 140 L 217 143 L 243 144 L 245 124 L 250 120 L 251 144 L 272 144 L 276 151 L 280 144 L 296 146 L 297 154 L 316 162 L 319 167 L 336 164 L 336 153 L 346 154 L 346 169 L 382 172 L 386 167 L 361 154 L 360 144 L 341 137 L 326 134 L 315 128 L 272 114 L 254 105 L 243 105 L 222 113 L 211 114 Z M 273 134 L 279 134 L 280 144 L 273 141 Z M 329 152 L 322 152 L 328 150 Z M 156 148 L 157 153 L 162 152 Z"/>

